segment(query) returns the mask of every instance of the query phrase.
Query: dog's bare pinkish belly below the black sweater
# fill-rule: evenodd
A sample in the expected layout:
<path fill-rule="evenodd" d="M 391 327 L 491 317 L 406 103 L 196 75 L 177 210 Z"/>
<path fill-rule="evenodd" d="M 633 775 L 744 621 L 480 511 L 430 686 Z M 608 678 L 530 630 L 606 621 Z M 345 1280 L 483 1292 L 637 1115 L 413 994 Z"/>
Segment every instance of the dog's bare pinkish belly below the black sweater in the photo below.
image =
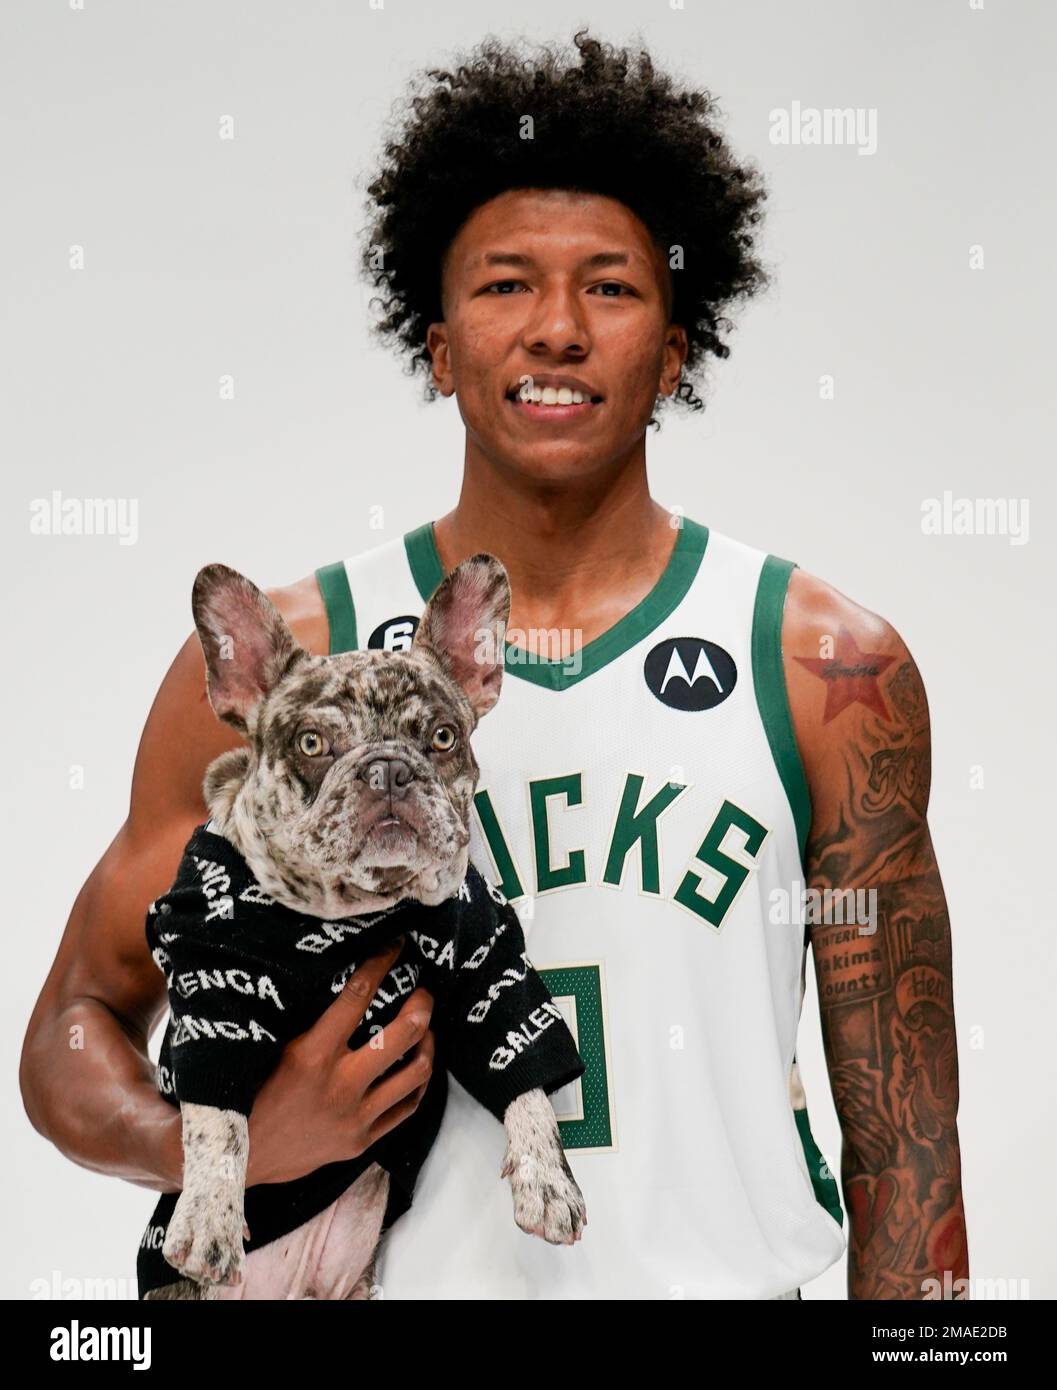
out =
<path fill-rule="evenodd" d="M 246 1255 L 242 1283 L 210 1300 L 369 1298 L 389 1175 L 371 1163 L 331 1205 L 289 1236 Z"/>

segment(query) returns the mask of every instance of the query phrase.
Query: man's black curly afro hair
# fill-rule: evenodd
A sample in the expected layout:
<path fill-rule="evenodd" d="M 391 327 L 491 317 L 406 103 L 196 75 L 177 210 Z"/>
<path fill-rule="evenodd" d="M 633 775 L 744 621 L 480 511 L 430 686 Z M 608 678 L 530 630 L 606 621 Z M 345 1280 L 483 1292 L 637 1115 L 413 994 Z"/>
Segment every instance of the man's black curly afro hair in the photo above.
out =
<path fill-rule="evenodd" d="M 723 311 L 768 282 L 754 253 L 766 192 L 718 132 L 708 92 L 681 89 L 644 49 L 630 56 L 587 31 L 573 43 L 574 57 L 552 44 L 526 56 L 487 38 L 452 71 L 412 82 L 367 185 L 374 331 L 409 374 L 424 373 L 433 399 L 426 329 L 444 318 L 444 256 L 467 217 L 515 188 L 602 193 L 638 215 L 669 264 L 681 247 L 672 322 L 690 349 L 675 399 L 700 410 L 707 360 L 730 353 Z"/>

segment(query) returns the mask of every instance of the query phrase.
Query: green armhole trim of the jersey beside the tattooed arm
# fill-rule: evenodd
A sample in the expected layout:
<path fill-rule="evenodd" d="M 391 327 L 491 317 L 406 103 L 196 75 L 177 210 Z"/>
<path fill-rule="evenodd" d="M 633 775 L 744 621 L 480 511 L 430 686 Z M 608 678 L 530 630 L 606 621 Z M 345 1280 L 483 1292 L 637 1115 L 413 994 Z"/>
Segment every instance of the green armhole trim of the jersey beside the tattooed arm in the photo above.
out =
<path fill-rule="evenodd" d="M 808 831 L 811 830 L 811 794 L 797 739 L 793 734 L 786 673 L 782 666 L 782 614 L 789 577 L 794 569 L 796 564 L 791 560 L 780 560 L 776 555 L 769 555 L 759 571 L 757 603 L 752 612 L 752 684 L 775 766 L 793 810 L 800 862 L 804 865 Z"/>

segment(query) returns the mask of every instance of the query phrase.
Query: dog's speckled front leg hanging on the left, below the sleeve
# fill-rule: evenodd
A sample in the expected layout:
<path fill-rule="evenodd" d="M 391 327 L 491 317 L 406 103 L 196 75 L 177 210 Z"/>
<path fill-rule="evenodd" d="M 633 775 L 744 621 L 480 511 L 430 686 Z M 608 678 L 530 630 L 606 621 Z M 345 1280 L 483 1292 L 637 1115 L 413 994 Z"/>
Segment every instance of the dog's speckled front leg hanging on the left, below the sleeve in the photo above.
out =
<path fill-rule="evenodd" d="M 243 1200 L 249 1120 L 238 1111 L 181 1105 L 184 1191 L 170 1218 L 161 1254 L 197 1283 L 236 1284 L 245 1251 Z"/>

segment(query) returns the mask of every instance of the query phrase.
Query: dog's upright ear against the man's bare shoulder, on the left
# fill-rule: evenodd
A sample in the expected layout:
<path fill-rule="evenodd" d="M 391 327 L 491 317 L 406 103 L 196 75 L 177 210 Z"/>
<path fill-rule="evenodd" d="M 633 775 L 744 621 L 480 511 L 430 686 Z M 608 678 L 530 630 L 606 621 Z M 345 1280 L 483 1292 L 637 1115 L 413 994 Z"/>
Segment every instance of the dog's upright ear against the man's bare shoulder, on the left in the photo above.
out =
<path fill-rule="evenodd" d="M 271 599 L 227 564 L 199 570 L 191 610 L 206 657 L 209 702 L 217 719 L 249 734 L 253 710 L 305 649 Z"/>

